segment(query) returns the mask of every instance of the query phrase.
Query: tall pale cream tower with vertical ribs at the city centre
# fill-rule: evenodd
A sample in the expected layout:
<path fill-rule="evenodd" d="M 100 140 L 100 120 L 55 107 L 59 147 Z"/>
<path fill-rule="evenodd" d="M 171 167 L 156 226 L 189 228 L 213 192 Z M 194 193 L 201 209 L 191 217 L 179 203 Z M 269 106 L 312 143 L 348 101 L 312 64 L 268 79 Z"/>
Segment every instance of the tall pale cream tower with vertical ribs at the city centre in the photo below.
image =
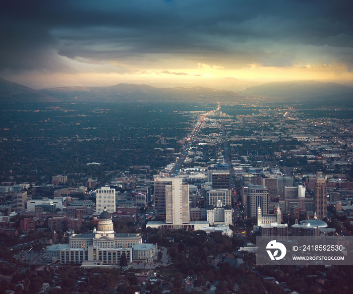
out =
<path fill-rule="evenodd" d="M 189 222 L 189 185 L 182 178 L 170 179 L 165 185 L 165 222 L 183 224 Z"/>

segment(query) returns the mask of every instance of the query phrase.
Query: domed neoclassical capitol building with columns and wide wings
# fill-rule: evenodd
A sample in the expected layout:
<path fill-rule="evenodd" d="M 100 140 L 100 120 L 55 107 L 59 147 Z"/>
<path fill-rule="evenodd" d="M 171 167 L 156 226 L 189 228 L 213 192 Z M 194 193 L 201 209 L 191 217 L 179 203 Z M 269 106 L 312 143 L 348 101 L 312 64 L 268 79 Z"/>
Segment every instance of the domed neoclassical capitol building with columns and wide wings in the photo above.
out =
<path fill-rule="evenodd" d="M 128 264 L 150 262 L 155 259 L 157 246 L 142 244 L 140 233 L 115 233 L 106 208 L 99 215 L 97 229 L 92 233 L 73 234 L 69 244 L 47 247 L 47 260 L 51 262 L 78 263 L 82 266 L 119 265 L 123 254 Z"/>

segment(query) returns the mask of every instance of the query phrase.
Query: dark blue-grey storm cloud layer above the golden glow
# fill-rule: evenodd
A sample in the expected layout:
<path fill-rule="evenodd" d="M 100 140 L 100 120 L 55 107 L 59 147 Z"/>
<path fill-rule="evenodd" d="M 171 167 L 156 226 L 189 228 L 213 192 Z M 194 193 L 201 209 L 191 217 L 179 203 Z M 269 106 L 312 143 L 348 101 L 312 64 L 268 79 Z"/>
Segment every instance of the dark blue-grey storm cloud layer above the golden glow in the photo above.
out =
<path fill-rule="evenodd" d="M 66 57 L 138 64 L 160 54 L 286 66 L 316 53 L 352 65 L 352 11 L 342 0 L 5 0 L 0 70 L 71 72 Z"/>

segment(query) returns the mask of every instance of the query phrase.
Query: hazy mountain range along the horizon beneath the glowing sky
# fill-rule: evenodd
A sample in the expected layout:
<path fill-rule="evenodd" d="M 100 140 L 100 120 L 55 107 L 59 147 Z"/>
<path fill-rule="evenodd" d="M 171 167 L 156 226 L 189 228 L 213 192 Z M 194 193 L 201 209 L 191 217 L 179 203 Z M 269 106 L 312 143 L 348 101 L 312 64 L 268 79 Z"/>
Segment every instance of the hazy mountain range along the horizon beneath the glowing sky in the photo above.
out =
<path fill-rule="evenodd" d="M 317 81 L 272 82 L 241 92 L 205 87 L 155 88 L 117 84 L 110 87 L 59 87 L 34 90 L 0 79 L 0 102 L 254 102 L 353 107 L 353 88 Z"/>

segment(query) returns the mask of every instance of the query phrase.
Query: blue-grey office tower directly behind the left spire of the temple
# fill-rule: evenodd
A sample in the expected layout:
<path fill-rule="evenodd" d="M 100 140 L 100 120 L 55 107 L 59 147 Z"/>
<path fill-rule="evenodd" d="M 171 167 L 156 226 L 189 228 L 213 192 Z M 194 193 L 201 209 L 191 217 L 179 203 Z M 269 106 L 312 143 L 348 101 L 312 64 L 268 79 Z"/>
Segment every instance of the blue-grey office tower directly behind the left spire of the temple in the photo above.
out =
<path fill-rule="evenodd" d="M 247 191 L 246 216 L 256 217 L 260 206 L 262 215 L 268 214 L 268 190 L 265 186 L 250 185 Z"/>

